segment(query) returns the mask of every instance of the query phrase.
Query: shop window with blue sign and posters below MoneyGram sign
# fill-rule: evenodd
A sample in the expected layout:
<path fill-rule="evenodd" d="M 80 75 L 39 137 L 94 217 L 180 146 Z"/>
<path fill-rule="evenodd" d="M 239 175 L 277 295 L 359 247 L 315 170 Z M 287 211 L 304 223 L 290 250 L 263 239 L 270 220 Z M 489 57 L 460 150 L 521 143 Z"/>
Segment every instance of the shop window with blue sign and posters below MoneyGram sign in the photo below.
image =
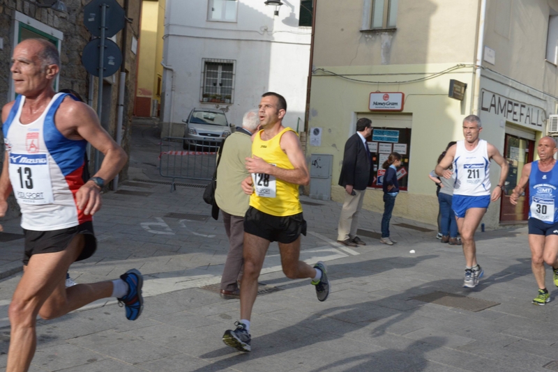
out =
<path fill-rule="evenodd" d="M 382 189 L 385 169 L 382 165 L 395 152 L 401 155 L 401 167 L 398 169 L 399 188 L 407 191 L 409 186 L 409 153 L 411 152 L 411 129 L 393 127 L 372 127 L 372 134 L 367 138 L 372 158 L 372 174 L 369 187 Z"/>

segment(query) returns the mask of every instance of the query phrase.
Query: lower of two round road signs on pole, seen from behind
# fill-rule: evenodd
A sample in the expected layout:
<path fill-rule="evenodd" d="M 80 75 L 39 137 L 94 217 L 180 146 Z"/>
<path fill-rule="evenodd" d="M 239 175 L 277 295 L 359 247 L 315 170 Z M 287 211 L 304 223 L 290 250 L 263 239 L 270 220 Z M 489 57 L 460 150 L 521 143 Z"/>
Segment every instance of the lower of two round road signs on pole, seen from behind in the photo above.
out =
<path fill-rule="evenodd" d="M 99 76 L 100 38 L 87 43 L 83 48 L 82 63 L 87 72 Z M 116 42 L 105 39 L 105 55 L 103 61 L 103 77 L 112 76 L 122 64 L 122 53 Z"/>

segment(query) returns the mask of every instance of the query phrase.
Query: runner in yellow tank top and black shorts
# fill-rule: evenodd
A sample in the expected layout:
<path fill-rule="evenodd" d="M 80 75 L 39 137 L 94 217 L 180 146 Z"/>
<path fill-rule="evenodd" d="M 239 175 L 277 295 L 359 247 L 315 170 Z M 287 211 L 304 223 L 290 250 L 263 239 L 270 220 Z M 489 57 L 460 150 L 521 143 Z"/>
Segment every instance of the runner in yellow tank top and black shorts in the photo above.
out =
<path fill-rule="evenodd" d="M 250 195 L 244 216 L 244 273 L 240 286 L 240 321 L 236 330 L 227 330 L 223 342 L 241 351 L 250 351 L 250 315 L 257 296 L 257 279 L 270 242 L 279 243 L 283 272 L 290 279 L 312 279 L 319 301 L 329 295 L 326 265 L 312 266 L 299 261 L 301 233 L 306 221 L 299 201 L 299 185 L 308 185 L 306 157 L 296 133 L 282 125 L 287 102 L 269 92 L 259 102 L 262 130 L 252 136 L 252 157 L 246 169 L 252 173 L 242 182 Z"/>

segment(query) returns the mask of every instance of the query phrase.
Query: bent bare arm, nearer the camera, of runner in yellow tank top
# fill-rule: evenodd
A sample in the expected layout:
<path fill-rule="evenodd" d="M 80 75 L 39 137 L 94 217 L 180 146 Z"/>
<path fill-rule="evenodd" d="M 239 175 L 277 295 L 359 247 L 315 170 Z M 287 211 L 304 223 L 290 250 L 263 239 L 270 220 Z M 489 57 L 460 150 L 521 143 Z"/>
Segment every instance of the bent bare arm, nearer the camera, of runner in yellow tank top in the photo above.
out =
<path fill-rule="evenodd" d="M 285 132 L 281 137 L 281 149 L 285 151 L 294 169 L 284 169 L 264 162 L 261 157 L 252 155 L 246 158 L 246 169 L 250 173 L 266 173 L 296 185 L 308 185 L 310 173 L 306 165 L 306 157 L 302 152 L 299 137 L 292 131 Z"/>

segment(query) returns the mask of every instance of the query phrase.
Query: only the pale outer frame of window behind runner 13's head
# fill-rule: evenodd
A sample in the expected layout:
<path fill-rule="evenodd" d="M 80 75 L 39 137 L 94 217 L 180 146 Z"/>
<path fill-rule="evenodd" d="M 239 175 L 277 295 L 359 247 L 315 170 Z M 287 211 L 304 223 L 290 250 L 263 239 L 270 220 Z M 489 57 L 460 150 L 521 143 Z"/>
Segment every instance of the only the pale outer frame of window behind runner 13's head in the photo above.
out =
<path fill-rule="evenodd" d="M 12 27 L 13 29 L 11 43 L 13 47 L 15 47 L 15 45 L 19 44 L 22 41 L 22 29 L 26 29 L 38 34 L 39 36 L 42 36 L 43 38 L 46 38 L 47 40 L 52 41 L 56 46 L 56 49 L 58 49 L 58 53 L 61 54 L 62 40 L 64 38 L 64 33 L 62 31 L 54 29 L 51 26 L 44 24 L 43 22 L 35 20 L 34 18 L 28 17 L 27 15 L 24 15 L 17 10 L 15 11 Z M 10 72 L 10 84 L 8 88 L 9 102 L 15 100 L 15 87 L 13 85 L 13 79 L 11 78 L 11 76 L 12 73 Z M 56 75 L 56 79 L 54 80 L 54 91 L 58 91 L 59 83 L 60 74 Z"/>

